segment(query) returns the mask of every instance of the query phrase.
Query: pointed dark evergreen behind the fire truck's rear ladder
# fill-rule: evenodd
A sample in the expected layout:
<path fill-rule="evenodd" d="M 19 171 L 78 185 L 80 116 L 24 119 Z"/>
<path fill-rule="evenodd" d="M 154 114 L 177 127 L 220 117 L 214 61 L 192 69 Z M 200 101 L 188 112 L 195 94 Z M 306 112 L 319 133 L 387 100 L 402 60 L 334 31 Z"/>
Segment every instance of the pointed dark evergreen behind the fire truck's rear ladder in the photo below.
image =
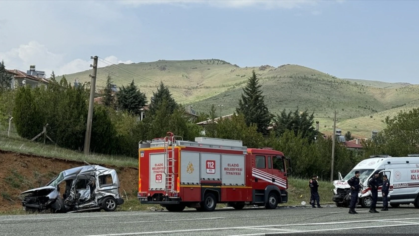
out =
<path fill-rule="evenodd" d="M 166 102 L 163 103 L 163 101 Z M 179 108 L 179 104 L 173 99 L 168 87 L 165 86 L 163 82 L 160 82 L 157 91 L 153 92 L 153 99 L 150 102 L 148 113 L 150 115 L 156 114 L 160 109 L 160 106 L 164 106 L 164 109 L 168 111 L 168 114 L 172 114 L 175 109 Z"/>

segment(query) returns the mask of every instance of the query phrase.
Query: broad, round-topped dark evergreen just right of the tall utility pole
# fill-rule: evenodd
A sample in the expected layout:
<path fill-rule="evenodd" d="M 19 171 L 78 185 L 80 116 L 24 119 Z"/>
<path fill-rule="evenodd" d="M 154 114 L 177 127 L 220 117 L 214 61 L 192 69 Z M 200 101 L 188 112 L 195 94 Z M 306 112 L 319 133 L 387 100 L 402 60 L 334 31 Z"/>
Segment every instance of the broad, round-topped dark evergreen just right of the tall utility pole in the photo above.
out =
<path fill-rule="evenodd" d="M 119 109 L 127 110 L 133 114 L 140 114 L 140 109 L 147 103 L 144 93 L 137 89 L 132 80 L 126 88 L 122 86 L 116 93 L 116 103 Z"/>

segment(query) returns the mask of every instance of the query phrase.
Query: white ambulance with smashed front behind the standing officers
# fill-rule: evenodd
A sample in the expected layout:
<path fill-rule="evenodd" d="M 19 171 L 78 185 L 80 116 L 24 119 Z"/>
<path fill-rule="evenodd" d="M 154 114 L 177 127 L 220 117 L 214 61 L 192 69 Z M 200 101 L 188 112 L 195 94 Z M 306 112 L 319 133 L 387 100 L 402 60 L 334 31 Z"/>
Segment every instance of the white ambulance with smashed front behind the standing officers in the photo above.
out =
<path fill-rule="evenodd" d="M 370 208 L 372 203 L 371 191 L 368 188 L 368 180 L 373 173 L 380 171 L 379 181 L 383 183 L 383 175 L 387 175 L 390 181 L 388 203 L 392 207 L 409 205 L 413 203 L 419 208 L 419 155 L 408 155 L 408 157 L 391 157 L 388 155 L 370 156 L 358 163 L 346 176 L 342 178 L 339 173 L 339 180 L 334 180 L 334 196 L 332 200 L 338 207 L 347 207 L 351 201 L 350 186 L 348 180 L 360 171 L 361 190 L 358 203 L 362 207 Z M 378 188 L 377 204 L 383 203 L 381 185 Z"/>

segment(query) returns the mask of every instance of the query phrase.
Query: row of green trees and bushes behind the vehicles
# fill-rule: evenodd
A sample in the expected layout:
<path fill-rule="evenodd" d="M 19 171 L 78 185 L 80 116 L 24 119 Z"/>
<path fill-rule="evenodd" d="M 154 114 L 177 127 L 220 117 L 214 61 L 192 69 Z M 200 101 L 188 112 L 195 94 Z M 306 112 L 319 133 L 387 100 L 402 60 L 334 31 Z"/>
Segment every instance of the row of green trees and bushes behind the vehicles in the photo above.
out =
<path fill-rule="evenodd" d="M 71 86 L 65 77 L 58 82 L 52 74 L 51 83 L 46 89 L 19 87 L 12 106 L 18 134 L 31 139 L 48 123 L 49 137 L 57 145 L 83 150 L 89 86 L 89 83 Z M 217 122 L 209 122 L 204 127 L 196 123 L 215 119 L 215 106 L 211 107 L 209 114 L 201 113 L 199 118 L 191 119 L 163 83 L 153 93 L 145 119 L 141 121 L 138 116 L 140 109 L 147 104 L 147 99 L 133 81 L 126 87 L 122 86 L 114 96 L 112 79 L 108 76 L 102 95 L 103 105 L 96 104 L 93 113 L 93 152 L 136 158 L 137 143 L 140 140 L 164 137 L 171 131 L 184 137 L 184 140 L 207 136 L 242 140 L 247 147 L 273 147 L 291 157 L 295 175 L 330 175 L 331 138 L 323 139 L 323 135 L 314 129 L 313 114 L 307 111 L 283 110 L 280 114 L 271 114 L 264 103 L 261 85 L 254 71 L 238 101 L 236 115 L 230 119 L 220 118 Z M 1 106 L 0 110 L 3 111 Z M 386 119 L 388 128 L 379 134 L 377 140 L 363 144 L 363 155 L 337 145 L 335 172 L 344 175 L 357 162 L 373 154 L 396 156 L 419 152 L 418 140 L 414 137 L 415 127 L 417 130 L 419 124 L 418 117 L 419 109 L 407 114 L 401 113 L 394 119 Z M 352 138 L 348 133 L 347 139 Z"/>

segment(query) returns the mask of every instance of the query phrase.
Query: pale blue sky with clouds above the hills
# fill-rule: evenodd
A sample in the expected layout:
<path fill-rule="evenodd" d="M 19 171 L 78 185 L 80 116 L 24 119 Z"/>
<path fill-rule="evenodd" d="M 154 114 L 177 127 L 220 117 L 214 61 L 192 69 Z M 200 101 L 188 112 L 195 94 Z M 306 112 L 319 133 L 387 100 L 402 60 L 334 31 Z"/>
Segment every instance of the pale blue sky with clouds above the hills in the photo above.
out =
<path fill-rule="evenodd" d="M 0 60 L 56 75 L 217 58 L 419 84 L 419 1 L 0 1 Z M 99 63 L 99 66 L 106 66 Z"/>

